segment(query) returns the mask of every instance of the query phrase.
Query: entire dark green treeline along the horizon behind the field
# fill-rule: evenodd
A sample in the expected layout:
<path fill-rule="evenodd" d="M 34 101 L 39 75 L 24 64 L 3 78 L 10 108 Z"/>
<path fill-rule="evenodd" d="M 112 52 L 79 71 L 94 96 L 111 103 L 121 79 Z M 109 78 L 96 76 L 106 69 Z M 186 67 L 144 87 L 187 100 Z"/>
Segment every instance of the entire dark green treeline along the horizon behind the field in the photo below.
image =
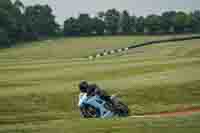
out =
<path fill-rule="evenodd" d="M 63 25 L 60 28 L 56 23 L 48 5 L 25 7 L 20 0 L 0 0 L 0 47 L 56 36 L 200 33 L 200 10 L 137 17 L 128 11 L 109 9 L 95 17 L 70 17 Z"/>

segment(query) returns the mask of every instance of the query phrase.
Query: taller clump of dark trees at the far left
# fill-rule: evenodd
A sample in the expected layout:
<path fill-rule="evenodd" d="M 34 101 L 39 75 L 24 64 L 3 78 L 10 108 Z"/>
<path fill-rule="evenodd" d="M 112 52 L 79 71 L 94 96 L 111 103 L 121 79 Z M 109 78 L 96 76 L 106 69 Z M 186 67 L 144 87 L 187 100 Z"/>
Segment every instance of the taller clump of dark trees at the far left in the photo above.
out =
<path fill-rule="evenodd" d="M 20 0 L 0 0 L 0 47 L 55 36 L 58 31 L 59 25 L 48 5 L 24 7 Z"/>

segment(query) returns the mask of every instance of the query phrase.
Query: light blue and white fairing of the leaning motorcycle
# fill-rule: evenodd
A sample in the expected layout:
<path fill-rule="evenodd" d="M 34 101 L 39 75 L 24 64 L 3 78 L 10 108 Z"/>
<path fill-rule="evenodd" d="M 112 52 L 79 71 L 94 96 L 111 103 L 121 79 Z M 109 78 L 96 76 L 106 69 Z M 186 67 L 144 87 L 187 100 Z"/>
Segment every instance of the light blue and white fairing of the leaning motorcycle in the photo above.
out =
<path fill-rule="evenodd" d="M 91 105 L 98 109 L 101 118 L 111 118 L 115 115 L 112 111 L 106 109 L 106 101 L 102 100 L 98 95 L 88 97 L 85 93 L 80 94 L 78 106 L 81 108 L 85 105 Z"/>

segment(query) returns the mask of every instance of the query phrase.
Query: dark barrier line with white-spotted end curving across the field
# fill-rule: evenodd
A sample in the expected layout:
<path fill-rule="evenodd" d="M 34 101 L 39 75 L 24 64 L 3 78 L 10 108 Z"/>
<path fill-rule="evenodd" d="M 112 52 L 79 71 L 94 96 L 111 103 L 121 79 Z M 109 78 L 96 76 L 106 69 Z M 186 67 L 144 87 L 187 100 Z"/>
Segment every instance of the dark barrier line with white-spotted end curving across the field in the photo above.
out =
<path fill-rule="evenodd" d="M 129 46 L 127 48 L 114 49 L 114 50 L 110 50 L 110 51 L 107 51 L 107 52 L 98 53 L 96 55 L 91 55 L 91 56 L 88 57 L 88 59 L 93 60 L 95 58 L 99 58 L 99 57 L 102 57 L 102 56 L 121 53 L 121 52 L 124 52 L 124 51 L 128 51 L 130 49 L 135 49 L 135 48 L 138 48 L 138 47 L 144 47 L 144 46 L 147 46 L 147 45 L 154 45 L 154 44 L 168 43 L 168 42 L 186 41 L 186 40 L 194 40 L 194 39 L 200 39 L 200 36 L 191 36 L 191 37 L 182 37 L 182 38 L 172 38 L 172 39 L 166 39 L 166 40 L 149 41 L 149 42 L 145 42 L 145 43 L 132 45 L 132 46 Z"/>

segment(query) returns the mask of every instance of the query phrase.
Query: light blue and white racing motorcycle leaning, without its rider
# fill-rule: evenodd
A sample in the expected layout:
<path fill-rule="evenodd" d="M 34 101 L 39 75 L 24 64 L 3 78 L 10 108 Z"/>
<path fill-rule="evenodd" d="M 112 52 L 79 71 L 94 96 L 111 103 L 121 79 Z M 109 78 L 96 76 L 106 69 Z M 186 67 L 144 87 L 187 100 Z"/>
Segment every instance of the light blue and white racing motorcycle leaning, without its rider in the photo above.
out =
<path fill-rule="evenodd" d="M 112 118 L 129 115 L 128 106 L 123 104 L 116 96 L 112 96 L 111 101 L 107 102 L 98 95 L 80 94 L 78 106 L 84 118 Z"/>

